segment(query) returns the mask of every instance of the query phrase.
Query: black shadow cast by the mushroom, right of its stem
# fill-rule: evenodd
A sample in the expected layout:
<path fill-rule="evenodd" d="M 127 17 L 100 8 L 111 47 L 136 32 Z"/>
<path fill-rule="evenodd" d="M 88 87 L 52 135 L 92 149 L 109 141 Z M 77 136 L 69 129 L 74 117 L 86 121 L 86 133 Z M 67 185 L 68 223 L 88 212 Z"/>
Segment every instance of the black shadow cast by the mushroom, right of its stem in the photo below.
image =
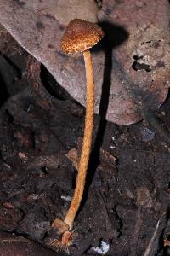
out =
<path fill-rule="evenodd" d="M 88 197 L 88 188 L 93 181 L 94 174 L 97 166 L 99 165 L 99 150 L 103 143 L 103 138 L 105 135 L 105 128 L 107 121 L 105 119 L 108 104 L 109 96 L 111 90 L 111 73 L 113 66 L 112 51 L 116 47 L 120 46 L 123 42 L 127 41 L 129 37 L 128 32 L 122 26 L 116 26 L 109 22 L 101 22 L 99 26 L 102 27 L 105 32 L 105 37 L 97 44 L 92 52 L 101 51 L 105 52 L 105 68 L 103 74 L 103 84 L 102 84 L 102 93 L 99 103 L 99 127 L 94 140 L 94 148 L 92 150 L 90 161 L 88 165 L 88 170 L 93 169 L 93 172 L 88 172 L 87 183 L 85 187 L 85 193 L 82 204 L 86 201 Z"/>

